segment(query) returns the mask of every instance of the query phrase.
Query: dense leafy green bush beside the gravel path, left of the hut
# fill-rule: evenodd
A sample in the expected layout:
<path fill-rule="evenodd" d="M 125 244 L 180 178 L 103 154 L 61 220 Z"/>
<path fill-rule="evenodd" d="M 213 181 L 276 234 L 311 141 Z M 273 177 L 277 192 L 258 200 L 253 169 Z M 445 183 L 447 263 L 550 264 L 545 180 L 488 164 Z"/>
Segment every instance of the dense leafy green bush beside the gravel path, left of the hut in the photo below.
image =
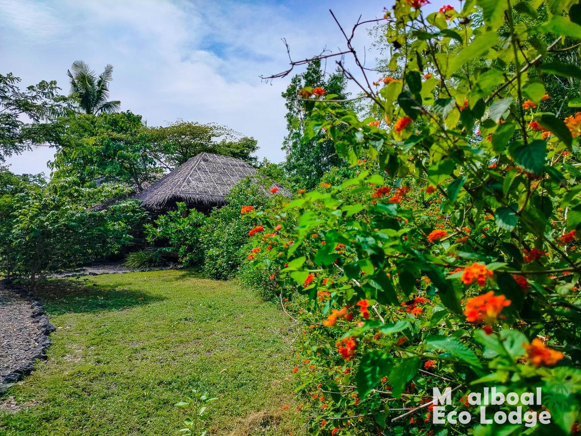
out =
<path fill-rule="evenodd" d="M 40 190 L 20 194 L 13 206 L 8 238 L 13 271 L 30 279 L 53 270 L 102 258 L 133 240 L 133 229 L 146 220 L 134 200 L 117 202 L 106 210 L 92 205 L 120 195 L 119 187 L 80 187 L 74 180 L 53 180 Z"/>

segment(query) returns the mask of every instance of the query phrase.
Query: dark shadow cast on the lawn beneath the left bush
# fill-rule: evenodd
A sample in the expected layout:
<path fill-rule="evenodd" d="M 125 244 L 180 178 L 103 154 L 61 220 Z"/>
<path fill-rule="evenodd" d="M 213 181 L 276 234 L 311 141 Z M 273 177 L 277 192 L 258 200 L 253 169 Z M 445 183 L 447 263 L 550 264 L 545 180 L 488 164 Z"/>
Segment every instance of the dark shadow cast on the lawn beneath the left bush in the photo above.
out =
<path fill-rule="evenodd" d="M 165 299 L 143 291 L 118 288 L 115 284 L 105 286 L 79 280 L 49 280 L 38 288 L 36 296 L 49 316 L 122 310 Z"/>

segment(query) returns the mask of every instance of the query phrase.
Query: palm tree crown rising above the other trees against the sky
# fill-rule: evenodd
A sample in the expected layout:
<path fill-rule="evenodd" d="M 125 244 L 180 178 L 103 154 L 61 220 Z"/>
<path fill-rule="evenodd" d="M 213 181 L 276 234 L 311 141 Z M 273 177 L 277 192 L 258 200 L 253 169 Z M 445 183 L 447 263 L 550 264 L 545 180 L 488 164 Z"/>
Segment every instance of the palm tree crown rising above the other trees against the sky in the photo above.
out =
<path fill-rule="evenodd" d="M 76 60 L 71 70 L 67 70 L 71 93 L 78 95 L 84 112 L 96 115 L 100 112 L 113 113 L 120 109 L 119 100 L 106 101 L 109 98 L 109 82 L 113 80 L 113 65 L 107 64 L 105 70 L 96 76 L 87 63 Z"/>

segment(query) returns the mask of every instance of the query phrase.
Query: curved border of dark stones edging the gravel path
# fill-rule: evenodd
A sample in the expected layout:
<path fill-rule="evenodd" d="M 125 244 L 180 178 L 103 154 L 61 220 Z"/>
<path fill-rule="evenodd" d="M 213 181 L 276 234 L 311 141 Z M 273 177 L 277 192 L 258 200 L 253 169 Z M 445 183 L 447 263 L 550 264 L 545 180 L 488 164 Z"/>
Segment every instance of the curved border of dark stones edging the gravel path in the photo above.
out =
<path fill-rule="evenodd" d="M 31 358 L 28 359 L 27 362 L 20 364 L 20 366 L 13 370 L 11 373 L 0 378 L 0 394 L 2 394 L 6 389 L 15 384 L 16 381 L 19 381 L 24 376 L 30 374 L 34 369 L 34 365 L 37 359 L 46 359 L 46 350 L 52 344 L 52 341 L 48 335 L 51 334 L 52 331 L 55 331 L 56 328 L 49 321 L 48 315 L 46 315 L 44 309 L 42 308 L 41 302 L 37 298 L 31 296 L 26 290 L 21 290 L 14 287 L 12 284 L 8 283 L 8 280 L 6 279 L 0 281 L 0 286 L 9 292 L 14 292 L 17 295 L 20 295 L 30 302 L 30 315 L 32 322 L 37 324 L 37 328 L 40 333 L 40 336 L 35 338 L 35 341 L 38 345 L 31 353 Z"/>

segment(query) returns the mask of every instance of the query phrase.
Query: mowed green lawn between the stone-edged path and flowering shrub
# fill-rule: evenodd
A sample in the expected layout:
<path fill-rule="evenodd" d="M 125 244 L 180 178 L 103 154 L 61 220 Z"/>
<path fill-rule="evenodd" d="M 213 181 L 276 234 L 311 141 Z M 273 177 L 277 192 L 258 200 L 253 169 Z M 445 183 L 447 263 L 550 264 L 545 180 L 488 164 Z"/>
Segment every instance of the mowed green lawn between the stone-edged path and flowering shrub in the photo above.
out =
<path fill-rule="evenodd" d="M 0 434 L 177 434 L 186 410 L 174 403 L 192 389 L 219 398 L 211 434 L 299 434 L 296 327 L 235 282 L 186 270 L 107 274 L 53 281 L 41 299 L 53 345 L 0 398 L 24 405 L 0 406 Z"/>

